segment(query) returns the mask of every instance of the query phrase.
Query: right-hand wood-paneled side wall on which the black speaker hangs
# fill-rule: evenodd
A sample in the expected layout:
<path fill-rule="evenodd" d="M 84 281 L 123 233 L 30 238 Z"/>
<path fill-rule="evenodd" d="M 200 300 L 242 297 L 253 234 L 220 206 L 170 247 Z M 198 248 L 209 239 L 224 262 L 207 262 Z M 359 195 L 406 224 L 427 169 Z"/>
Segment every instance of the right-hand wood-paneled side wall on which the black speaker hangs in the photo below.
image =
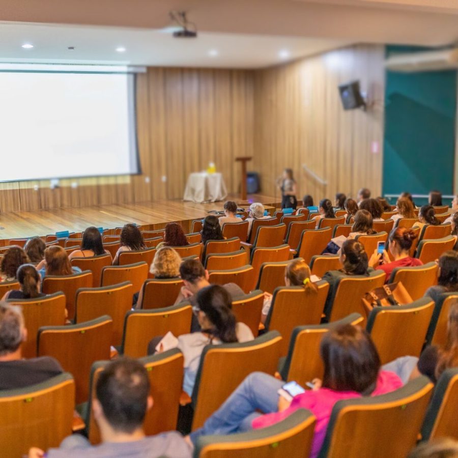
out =
<path fill-rule="evenodd" d="M 294 170 L 299 197 L 355 196 L 367 186 L 381 192 L 383 136 L 382 46 L 359 45 L 255 72 L 255 162 L 262 192 L 279 195 L 275 178 L 283 167 Z M 366 112 L 344 111 L 337 85 L 361 80 L 376 103 Z M 371 152 L 372 142 L 379 153 Z M 328 182 L 310 178 L 306 164 Z"/>

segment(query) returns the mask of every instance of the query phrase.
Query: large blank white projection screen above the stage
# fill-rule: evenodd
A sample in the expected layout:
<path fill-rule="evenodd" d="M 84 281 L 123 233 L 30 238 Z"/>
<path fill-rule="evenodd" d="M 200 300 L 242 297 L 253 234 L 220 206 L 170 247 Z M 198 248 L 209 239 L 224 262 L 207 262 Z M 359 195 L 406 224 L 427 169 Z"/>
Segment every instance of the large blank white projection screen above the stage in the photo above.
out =
<path fill-rule="evenodd" d="M 139 173 L 135 75 L 0 72 L 0 182 Z"/>

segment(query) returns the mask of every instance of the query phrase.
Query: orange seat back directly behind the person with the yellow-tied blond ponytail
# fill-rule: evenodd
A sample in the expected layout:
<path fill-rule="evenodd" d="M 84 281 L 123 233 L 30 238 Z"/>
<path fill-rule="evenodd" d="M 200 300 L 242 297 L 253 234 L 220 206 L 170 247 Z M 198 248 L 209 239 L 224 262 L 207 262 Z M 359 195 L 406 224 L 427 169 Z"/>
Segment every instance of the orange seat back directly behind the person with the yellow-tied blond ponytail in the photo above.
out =
<path fill-rule="evenodd" d="M 303 287 L 279 287 L 273 292 L 266 319 L 266 329 L 283 337 L 280 356 L 286 356 L 291 333 L 297 326 L 320 324 L 329 291 L 327 281 L 316 283 L 318 291 L 305 292 Z"/>

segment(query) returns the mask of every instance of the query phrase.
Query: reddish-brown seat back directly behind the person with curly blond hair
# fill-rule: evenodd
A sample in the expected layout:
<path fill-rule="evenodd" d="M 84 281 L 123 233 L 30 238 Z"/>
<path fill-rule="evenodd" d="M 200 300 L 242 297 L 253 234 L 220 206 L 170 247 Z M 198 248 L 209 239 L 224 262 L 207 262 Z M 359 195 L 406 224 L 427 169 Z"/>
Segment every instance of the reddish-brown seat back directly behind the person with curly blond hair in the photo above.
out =
<path fill-rule="evenodd" d="M 163 308 L 174 305 L 182 286 L 181 278 L 149 278 L 141 287 L 143 295 L 138 308 Z"/>

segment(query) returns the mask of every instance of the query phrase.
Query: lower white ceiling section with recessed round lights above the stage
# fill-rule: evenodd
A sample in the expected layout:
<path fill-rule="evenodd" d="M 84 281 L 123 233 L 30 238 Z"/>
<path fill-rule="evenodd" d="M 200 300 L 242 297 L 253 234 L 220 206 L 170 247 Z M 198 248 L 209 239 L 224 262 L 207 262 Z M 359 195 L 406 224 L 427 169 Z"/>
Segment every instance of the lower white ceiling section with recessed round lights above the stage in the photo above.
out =
<path fill-rule="evenodd" d="M 22 44 L 33 44 L 23 49 Z M 167 28 L 0 23 L 0 62 L 118 63 L 259 68 L 344 46 L 349 41 L 199 32 L 179 39 Z M 74 50 L 68 50 L 73 46 Z M 117 47 L 126 48 L 117 52 Z M 212 55 L 217 53 L 217 55 Z"/>

